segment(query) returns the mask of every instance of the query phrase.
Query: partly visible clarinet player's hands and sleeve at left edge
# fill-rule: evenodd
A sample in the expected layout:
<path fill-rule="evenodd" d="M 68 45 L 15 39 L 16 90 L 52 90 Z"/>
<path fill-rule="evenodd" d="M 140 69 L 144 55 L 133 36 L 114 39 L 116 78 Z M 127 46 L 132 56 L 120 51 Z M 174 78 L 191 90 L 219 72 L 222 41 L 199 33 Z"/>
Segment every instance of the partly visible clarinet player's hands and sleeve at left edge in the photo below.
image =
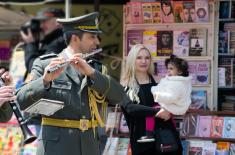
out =
<path fill-rule="evenodd" d="M 9 101 L 16 99 L 15 89 L 9 84 L 12 82 L 12 78 L 9 72 L 4 68 L 0 68 L 0 77 L 4 85 L 0 86 L 0 122 L 7 122 L 11 119 L 13 110 L 9 105 Z"/>

